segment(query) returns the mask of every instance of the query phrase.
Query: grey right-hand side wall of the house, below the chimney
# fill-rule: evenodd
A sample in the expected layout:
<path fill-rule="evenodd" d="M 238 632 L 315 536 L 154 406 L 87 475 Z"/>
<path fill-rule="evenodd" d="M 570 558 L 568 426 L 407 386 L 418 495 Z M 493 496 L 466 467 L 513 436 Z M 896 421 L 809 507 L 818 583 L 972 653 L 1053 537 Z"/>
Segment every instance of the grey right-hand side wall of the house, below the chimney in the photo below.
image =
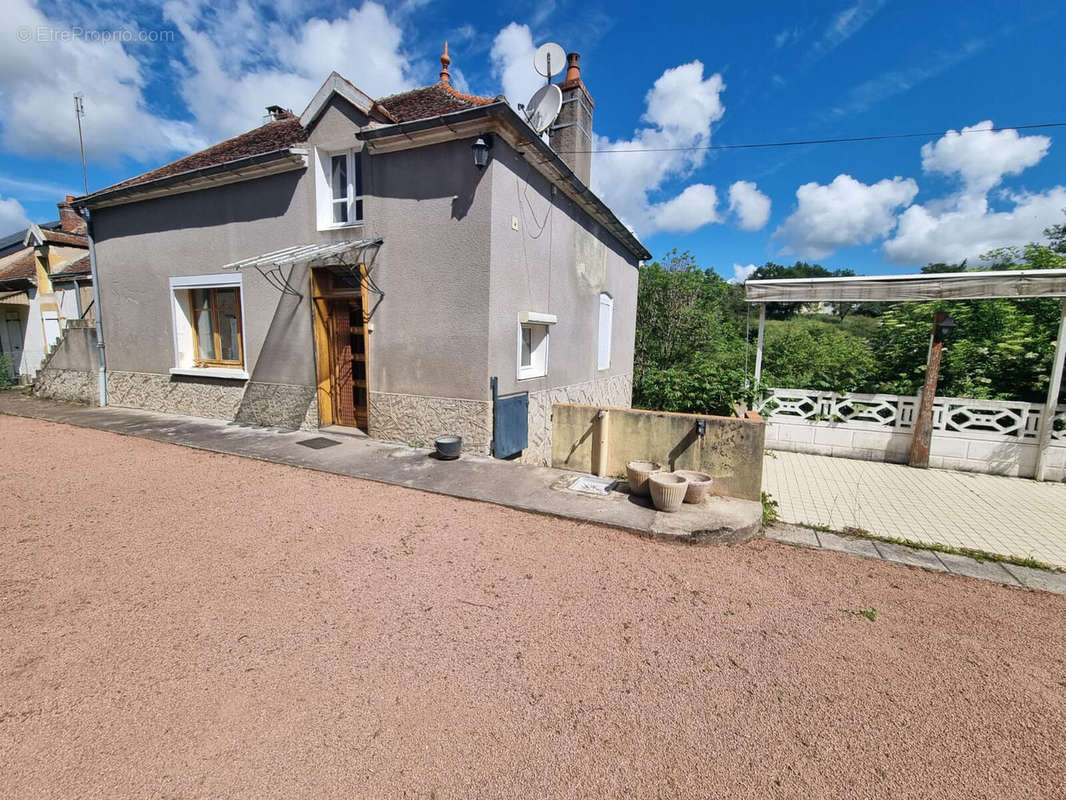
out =
<path fill-rule="evenodd" d="M 492 149 L 489 373 L 500 393 L 530 393 L 522 461 L 551 459 L 551 405 L 627 407 L 632 401 L 636 259 L 501 142 Z M 514 220 L 518 230 L 514 229 Z M 599 295 L 614 300 L 611 366 L 598 369 Z M 518 315 L 558 317 L 549 327 L 548 374 L 518 380 Z"/>

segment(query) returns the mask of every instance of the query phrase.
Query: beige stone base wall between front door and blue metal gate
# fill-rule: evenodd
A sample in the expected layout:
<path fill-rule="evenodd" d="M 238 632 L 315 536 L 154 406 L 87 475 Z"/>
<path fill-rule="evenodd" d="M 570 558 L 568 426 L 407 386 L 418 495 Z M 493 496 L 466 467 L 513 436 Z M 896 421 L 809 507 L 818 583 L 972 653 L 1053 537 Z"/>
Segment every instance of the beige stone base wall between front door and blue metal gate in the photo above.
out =
<path fill-rule="evenodd" d="M 370 435 L 385 442 L 423 443 L 446 433 L 463 437 L 467 452 L 487 454 L 492 441 L 492 403 L 452 397 L 370 393 Z"/>

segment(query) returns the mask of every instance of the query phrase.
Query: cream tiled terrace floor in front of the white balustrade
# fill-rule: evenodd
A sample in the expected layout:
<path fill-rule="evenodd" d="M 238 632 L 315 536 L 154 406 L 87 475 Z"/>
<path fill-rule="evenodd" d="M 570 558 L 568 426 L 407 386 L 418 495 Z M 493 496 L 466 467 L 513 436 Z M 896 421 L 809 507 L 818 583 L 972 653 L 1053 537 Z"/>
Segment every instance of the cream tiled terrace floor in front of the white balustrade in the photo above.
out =
<path fill-rule="evenodd" d="M 763 489 L 786 523 L 1066 566 L 1066 483 L 770 451 Z"/>

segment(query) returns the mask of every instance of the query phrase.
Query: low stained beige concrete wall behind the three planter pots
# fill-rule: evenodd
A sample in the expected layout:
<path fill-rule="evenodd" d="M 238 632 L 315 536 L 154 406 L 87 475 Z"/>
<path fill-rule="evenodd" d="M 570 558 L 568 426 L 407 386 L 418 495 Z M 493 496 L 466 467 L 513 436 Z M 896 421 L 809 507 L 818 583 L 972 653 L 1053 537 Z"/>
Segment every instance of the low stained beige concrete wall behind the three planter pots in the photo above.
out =
<path fill-rule="evenodd" d="M 626 462 L 656 461 L 667 469 L 697 469 L 714 478 L 712 494 L 759 500 L 765 423 L 755 412 L 743 419 L 696 414 L 552 406 L 551 465 L 559 469 L 620 476 Z M 699 435 L 698 423 L 706 422 Z"/>

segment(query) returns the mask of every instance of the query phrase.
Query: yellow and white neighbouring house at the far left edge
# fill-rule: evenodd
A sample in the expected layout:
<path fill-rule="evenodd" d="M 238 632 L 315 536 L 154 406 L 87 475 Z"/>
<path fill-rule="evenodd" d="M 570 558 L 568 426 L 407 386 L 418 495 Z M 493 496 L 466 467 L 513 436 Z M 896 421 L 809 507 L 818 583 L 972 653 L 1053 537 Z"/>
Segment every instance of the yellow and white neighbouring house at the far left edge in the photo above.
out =
<path fill-rule="evenodd" d="M 71 199 L 59 204 L 58 222 L 0 240 L 0 349 L 22 382 L 37 373 L 69 320 L 91 315 L 88 239 Z"/>

